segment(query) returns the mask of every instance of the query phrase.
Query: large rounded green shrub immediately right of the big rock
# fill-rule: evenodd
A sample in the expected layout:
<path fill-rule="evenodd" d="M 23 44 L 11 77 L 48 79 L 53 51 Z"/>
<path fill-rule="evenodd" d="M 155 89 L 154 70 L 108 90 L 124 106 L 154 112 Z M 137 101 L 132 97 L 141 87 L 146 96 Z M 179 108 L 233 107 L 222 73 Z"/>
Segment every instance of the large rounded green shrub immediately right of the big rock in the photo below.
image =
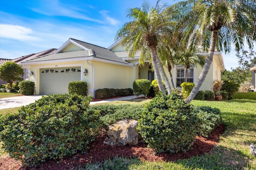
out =
<path fill-rule="evenodd" d="M 170 153 L 190 149 L 198 132 L 198 117 L 182 96 L 156 96 L 145 107 L 138 130 L 148 147 Z"/>

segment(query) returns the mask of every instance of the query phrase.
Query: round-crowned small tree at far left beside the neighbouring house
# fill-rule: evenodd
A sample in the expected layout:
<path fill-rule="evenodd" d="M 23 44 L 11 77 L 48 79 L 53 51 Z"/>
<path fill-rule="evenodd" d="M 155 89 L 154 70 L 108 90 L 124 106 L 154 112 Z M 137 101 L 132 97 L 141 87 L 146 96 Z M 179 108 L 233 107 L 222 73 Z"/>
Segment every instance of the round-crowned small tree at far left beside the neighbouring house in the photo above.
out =
<path fill-rule="evenodd" d="M 22 80 L 20 75 L 24 74 L 23 68 L 14 61 L 7 61 L 0 66 L 0 78 L 8 83 L 12 88 L 15 81 Z"/>

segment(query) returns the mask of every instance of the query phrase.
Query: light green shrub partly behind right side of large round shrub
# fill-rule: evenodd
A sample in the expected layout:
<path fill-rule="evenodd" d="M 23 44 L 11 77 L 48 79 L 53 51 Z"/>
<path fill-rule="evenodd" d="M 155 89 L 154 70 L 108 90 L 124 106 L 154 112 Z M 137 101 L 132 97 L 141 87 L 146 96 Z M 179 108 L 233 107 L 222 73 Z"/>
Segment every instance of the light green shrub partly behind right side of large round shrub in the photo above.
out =
<path fill-rule="evenodd" d="M 222 123 L 222 117 L 220 110 L 209 106 L 195 107 L 195 111 L 200 119 L 200 130 L 198 135 L 202 137 L 208 137 L 214 128 L 218 127 Z"/>

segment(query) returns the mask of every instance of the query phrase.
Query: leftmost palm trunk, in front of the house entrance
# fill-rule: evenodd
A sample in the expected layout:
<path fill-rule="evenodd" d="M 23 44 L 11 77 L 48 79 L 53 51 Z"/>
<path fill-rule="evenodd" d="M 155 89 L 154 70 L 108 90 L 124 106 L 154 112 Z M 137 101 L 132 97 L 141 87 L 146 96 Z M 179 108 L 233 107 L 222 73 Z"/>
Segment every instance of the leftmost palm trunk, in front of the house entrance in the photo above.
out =
<path fill-rule="evenodd" d="M 164 88 L 164 85 L 162 83 L 162 79 L 161 79 L 161 75 L 160 75 L 160 70 L 158 68 L 158 62 L 157 62 L 158 54 L 157 54 L 156 47 L 151 46 L 150 47 L 150 53 L 151 53 L 151 58 L 152 58 L 152 64 L 153 64 L 154 71 L 155 71 L 155 74 L 156 74 L 156 80 L 157 80 L 157 83 L 158 83 L 158 87 L 161 90 L 161 92 L 164 95 L 166 95 L 165 88 Z"/>

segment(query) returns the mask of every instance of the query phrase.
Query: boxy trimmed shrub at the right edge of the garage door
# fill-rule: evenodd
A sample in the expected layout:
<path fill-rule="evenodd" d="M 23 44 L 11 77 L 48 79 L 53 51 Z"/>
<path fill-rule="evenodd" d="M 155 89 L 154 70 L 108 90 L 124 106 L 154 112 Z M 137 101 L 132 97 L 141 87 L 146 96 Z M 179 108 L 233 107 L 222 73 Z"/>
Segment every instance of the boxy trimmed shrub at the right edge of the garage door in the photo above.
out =
<path fill-rule="evenodd" d="M 84 81 L 71 81 L 68 84 L 68 93 L 77 94 L 81 96 L 87 95 L 87 82 Z"/>

